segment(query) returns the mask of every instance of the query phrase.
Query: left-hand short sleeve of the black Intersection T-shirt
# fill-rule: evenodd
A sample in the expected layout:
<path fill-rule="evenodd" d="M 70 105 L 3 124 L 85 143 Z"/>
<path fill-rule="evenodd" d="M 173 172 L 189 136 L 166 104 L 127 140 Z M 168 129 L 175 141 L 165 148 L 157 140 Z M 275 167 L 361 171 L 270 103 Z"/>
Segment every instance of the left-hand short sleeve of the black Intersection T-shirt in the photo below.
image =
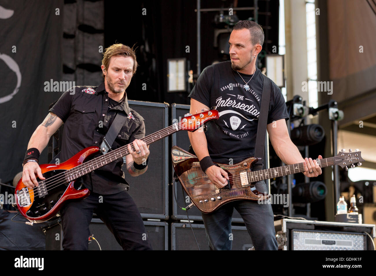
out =
<path fill-rule="evenodd" d="M 197 79 L 195 86 L 193 87 L 191 94 L 188 95 L 189 98 L 195 99 L 202 104 L 205 104 L 207 107 L 210 106 L 210 91 L 211 83 L 209 80 L 212 80 L 212 68 L 206 67 L 200 77 Z"/>

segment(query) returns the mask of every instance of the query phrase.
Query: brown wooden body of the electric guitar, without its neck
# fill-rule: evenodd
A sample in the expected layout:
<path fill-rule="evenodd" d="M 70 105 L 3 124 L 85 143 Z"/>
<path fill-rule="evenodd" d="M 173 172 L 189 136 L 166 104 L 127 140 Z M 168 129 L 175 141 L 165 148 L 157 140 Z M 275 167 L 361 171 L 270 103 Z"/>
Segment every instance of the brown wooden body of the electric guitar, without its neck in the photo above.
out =
<path fill-rule="evenodd" d="M 173 146 L 171 157 L 175 173 L 183 189 L 202 213 L 211 213 L 223 204 L 235 200 L 264 201 L 270 197 L 268 194 L 258 192 L 252 183 L 248 183 L 248 186 L 244 187 L 246 183 L 244 178 L 242 182 L 241 174 L 250 171 L 252 164 L 257 161 L 254 157 L 233 165 L 216 163 L 217 166 L 228 173 L 230 179 L 227 181 L 227 187 L 222 189 L 218 189 L 217 186 L 212 184 L 208 176 L 202 171 L 199 160 L 195 155 L 178 146 Z"/>

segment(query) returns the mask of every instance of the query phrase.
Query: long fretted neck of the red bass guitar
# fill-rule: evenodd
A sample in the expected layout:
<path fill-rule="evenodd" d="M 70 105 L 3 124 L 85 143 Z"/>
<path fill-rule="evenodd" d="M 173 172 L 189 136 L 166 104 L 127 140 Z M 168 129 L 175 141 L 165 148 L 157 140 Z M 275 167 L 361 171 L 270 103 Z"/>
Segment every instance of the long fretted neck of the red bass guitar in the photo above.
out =
<path fill-rule="evenodd" d="M 151 143 L 157 142 L 179 130 L 180 129 L 179 129 L 178 124 L 173 124 L 167 128 L 164 128 L 160 131 L 152 133 L 139 140 L 144 141 L 146 145 L 150 145 Z M 87 161 L 79 166 L 76 166 L 70 170 L 67 170 L 65 172 L 65 175 L 67 176 L 68 181 L 73 181 L 74 179 L 79 178 L 80 176 L 83 176 L 89 172 L 92 172 L 93 170 L 99 169 L 100 167 L 103 167 L 107 165 L 108 163 L 111 163 L 115 160 L 118 160 L 128 155 L 129 154 L 128 145 L 131 146 L 132 151 L 135 151 L 135 147 L 133 146 L 133 143 L 129 143 L 125 146 L 122 146 L 118 149 L 115 149 L 99 157 L 96 157 L 90 161 Z"/>

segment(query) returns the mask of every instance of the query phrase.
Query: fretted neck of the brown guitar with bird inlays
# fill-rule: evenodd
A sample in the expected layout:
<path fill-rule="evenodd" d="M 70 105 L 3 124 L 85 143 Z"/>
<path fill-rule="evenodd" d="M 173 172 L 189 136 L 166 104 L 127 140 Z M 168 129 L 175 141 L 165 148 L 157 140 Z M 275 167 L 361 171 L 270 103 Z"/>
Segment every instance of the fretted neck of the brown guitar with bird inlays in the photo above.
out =
<path fill-rule="evenodd" d="M 316 161 L 321 168 L 334 165 L 333 157 L 324 158 L 324 159 L 316 159 Z M 291 165 L 275 167 L 271 169 L 256 170 L 254 172 L 249 172 L 248 177 L 249 177 L 250 182 L 256 182 L 256 181 L 276 178 L 276 177 L 280 177 L 284 175 L 290 175 L 290 174 L 294 174 L 298 172 L 304 172 L 303 163 L 291 164 Z"/>

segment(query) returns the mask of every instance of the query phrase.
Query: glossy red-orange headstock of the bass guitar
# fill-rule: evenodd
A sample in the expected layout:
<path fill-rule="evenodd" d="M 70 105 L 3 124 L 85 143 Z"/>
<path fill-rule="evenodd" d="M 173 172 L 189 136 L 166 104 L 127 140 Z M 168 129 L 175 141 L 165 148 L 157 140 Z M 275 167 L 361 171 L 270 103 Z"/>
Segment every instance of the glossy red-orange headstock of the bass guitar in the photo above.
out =
<path fill-rule="evenodd" d="M 195 131 L 202 127 L 206 122 L 217 120 L 219 118 L 218 110 L 208 110 L 195 115 L 186 114 L 179 122 L 179 130 Z"/>

